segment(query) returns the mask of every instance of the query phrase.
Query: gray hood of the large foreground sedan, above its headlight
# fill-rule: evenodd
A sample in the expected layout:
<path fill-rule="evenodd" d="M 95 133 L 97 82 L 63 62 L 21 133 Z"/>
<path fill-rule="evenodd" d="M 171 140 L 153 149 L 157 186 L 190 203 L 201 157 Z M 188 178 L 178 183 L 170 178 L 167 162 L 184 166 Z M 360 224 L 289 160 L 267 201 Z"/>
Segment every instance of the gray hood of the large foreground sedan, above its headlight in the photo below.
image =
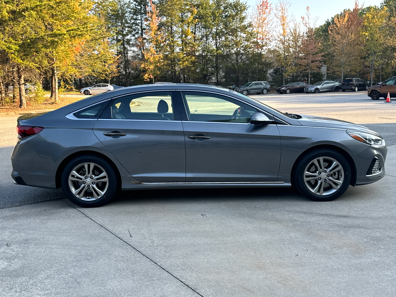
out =
<path fill-rule="evenodd" d="M 322 116 L 308 116 L 305 114 L 298 114 L 297 116 L 301 116 L 301 118 L 299 118 L 297 120 L 303 126 L 339 128 L 339 129 L 346 129 L 346 130 L 362 131 L 362 132 L 371 133 L 374 135 L 379 135 L 379 133 L 377 133 L 369 128 L 366 128 L 364 126 L 360 126 L 358 124 L 354 124 L 351 122 L 346 122 L 343 120 L 336 120 L 333 118 L 325 118 Z"/>

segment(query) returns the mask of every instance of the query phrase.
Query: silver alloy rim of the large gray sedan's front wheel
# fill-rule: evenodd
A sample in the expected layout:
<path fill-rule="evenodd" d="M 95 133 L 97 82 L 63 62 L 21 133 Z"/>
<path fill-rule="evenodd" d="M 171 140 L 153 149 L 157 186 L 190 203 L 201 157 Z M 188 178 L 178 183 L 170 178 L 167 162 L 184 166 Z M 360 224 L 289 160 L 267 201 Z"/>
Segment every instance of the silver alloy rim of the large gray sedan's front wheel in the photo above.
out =
<path fill-rule="evenodd" d="M 315 158 L 308 163 L 304 171 L 305 186 L 320 196 L 333 194 L 343 184 L 344 169 L 331 157 Z"/>

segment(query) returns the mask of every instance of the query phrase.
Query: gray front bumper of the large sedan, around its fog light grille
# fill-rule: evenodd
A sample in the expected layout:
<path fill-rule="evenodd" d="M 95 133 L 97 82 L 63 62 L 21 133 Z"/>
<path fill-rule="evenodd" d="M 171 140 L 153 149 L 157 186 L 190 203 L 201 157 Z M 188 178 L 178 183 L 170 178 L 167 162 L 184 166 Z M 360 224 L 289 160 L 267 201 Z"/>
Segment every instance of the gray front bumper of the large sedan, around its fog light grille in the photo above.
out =
<path fill-rule="evenodd" d="M 382 179 L 385 175 L 385 160 L 388 148 L 385 147 L 368 147 L 366 150 L 352 156 L 355 166 L 356 166 L 356 182 L 355 185 L 367 185 L 370 183 L 375 183 Z M 379 159 L 381 164 L 381 171 L 375 174 L 367 174 L 369 169 L 371 169 L 372 161 L 374 158 Z"/>

